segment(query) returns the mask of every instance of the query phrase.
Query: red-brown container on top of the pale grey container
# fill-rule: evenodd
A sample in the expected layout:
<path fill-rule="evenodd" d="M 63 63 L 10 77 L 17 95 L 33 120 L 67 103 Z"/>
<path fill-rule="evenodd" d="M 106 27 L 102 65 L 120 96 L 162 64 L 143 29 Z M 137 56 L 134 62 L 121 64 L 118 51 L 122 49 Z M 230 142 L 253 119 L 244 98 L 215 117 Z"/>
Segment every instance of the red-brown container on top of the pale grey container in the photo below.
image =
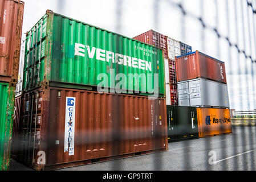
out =
<path fill-rule="evenodd" d="M 177 81 L 204 77 L 227 83 L 225 63 L 201 52 L 176 57 Z"/>

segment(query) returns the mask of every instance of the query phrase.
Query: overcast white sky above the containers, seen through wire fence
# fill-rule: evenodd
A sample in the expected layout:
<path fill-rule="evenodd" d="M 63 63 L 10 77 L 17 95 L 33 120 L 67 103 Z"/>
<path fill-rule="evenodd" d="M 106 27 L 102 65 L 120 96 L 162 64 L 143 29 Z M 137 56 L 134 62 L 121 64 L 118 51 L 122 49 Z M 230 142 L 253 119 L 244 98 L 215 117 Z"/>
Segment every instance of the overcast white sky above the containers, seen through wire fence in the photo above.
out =
<path fill-rule="evenodd" d="M 229 36 L 232 43 L 238 44 L 239 49 L 245 50 L 246 54 L 252 55 L 255 60 L 256 36 L 253 25 L 255 26 L 256 16 L 253 23 L 253 14 L 251 9 L 247 9 L 246 0 L 227 0 L 228 9 L 226 0 L 23 1 L 25 1 L 23 40 L 26 37 L 25 33 L 38 22 L 47 9 L 131 38 L 153 29 L 189 44 L 193 51 L 199 50 L 225 61 L 231 108 L 256 109 L 256 63 L 252 64 L 242 54 L 238 55 L 236 49 L 230 48 L 225 39 L 218 39 L 211 28 L 202 31 L 202 26 L 196 19 L 203 14 L 202 19 L 207 26 L 218 27 L 221 35 Z M 251 1 L 256 9 L 256 1 Z M 182 2 L 185 11 L 189 14 L 184 18 L 173 2 Z M 204 8 L 201 8 L 201 2 Z M 235 10 L 237 10 L 237 19 Z M 227 12 L 229 12 L 228 19 Z M 117 23 L 119 20 L 121 21 Z"/>

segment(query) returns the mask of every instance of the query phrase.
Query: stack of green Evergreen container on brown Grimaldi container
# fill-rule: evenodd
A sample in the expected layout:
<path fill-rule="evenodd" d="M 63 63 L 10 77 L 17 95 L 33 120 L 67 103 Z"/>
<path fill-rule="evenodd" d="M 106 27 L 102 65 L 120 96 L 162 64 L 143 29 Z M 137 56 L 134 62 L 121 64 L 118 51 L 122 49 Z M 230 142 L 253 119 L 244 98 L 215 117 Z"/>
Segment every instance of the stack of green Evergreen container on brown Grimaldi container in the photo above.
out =
<path fill-rule="evenodd" d="M 26 37 L 19 160 L 54 169 L 166 150 L 164 80 L 161 49 L 47 10 Z"/>

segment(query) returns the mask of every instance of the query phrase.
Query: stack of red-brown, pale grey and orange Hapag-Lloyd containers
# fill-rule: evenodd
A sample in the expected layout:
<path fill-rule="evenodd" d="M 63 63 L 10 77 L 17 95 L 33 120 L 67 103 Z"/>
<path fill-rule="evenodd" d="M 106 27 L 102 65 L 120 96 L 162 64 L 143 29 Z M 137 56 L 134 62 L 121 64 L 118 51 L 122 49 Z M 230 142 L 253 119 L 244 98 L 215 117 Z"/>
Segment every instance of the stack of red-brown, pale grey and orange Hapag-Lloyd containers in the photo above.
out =
<path fill-rule="evenodd" d="M 198 51 L 176 57 L 176 64 L 178 104 L 199 107 L 200 137 L 231 133 L 225 64 Z"/>

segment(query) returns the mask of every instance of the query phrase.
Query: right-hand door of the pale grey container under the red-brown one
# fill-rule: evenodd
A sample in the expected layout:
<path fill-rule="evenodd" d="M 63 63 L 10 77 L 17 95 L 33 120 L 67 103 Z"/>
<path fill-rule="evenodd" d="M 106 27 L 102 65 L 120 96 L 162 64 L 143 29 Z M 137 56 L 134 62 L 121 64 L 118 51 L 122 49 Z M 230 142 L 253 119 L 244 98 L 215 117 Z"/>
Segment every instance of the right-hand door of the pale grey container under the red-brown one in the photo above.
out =
<path fill-rule="evenodd" d="M 201 106 L 201 86 L 200 80 L 190 81 L 189 82 L 189 97 L 190 97 L 190 106 Z"/>

